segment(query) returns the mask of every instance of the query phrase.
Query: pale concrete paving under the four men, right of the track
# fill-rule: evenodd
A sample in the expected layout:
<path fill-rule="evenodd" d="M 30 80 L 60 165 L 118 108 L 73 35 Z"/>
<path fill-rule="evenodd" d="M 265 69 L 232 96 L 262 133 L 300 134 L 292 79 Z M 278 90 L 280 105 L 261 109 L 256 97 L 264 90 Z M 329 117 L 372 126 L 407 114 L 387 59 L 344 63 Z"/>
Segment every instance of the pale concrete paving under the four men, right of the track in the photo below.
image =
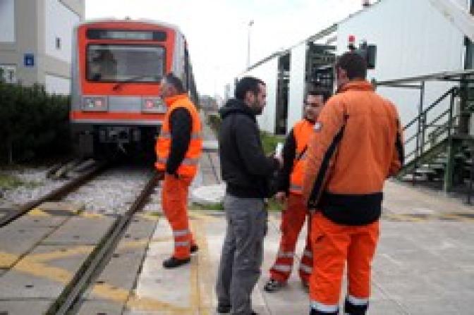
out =
<path fill-rule="evenodd" d="M 474 219 L 456 214 L 474 214 L 474 209 L 455 199 L 398 183 L 388 183 L 385 196 L 368 314 L 471 314 Z M 416 216 L 421 213 L 430 216 Z M 154 239 L 162 241 L 150 245 L 135 291 L 138 299 L 153 302 L 147 307 L 129 303 L 125 314 L 215 314 L 214 285 L 224 239 L 224 216 L 221 212 L 200 211 L 190 217 L 200 251 L 188 266 L 171 271 L 162 268 L 172 242 L 168 224 L 160 221 Z M 298 257 L 286 288 L 273 294 L 262 290 L 279 237 L 279 213 L 272 213 L 253 307 L 259 314 L 308 314 L 308 293 L 296 272 L 305 231 L 300 234 Z M 341 299 L 345 291 L 343 288 Z"/>

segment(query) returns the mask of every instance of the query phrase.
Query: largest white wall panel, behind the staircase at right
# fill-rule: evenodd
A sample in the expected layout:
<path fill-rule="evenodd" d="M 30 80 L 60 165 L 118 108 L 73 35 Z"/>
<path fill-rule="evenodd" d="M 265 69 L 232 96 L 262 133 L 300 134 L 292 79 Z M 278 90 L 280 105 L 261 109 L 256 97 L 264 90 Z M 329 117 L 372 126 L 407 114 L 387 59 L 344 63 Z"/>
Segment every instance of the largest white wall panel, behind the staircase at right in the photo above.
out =
<path fill-rule="evenodd" d="M 367 39 L 369 44 L 377 44 L 376 68 L 369 71 L 369 80 L 394 80 L 463 69 L 463 34 L 429 0 L 382 0 L 344 20 L 338 29 L 338 54 L 347 51 L 349 35 L 355 35 L 356 42 Z M 427 82 L 425 107 L 451 86 L 446 82 Z M 394 101 L 403 125 L 418 115 L 418 90 L 378 87 L 377 92 Z M 445 101 L 432 116 L 442 113 L 447 106 L 449 102 Z M 414 130 L 407 130 L 406 138 Z M 411 147 L 406 151 L 411 151 Z"/>

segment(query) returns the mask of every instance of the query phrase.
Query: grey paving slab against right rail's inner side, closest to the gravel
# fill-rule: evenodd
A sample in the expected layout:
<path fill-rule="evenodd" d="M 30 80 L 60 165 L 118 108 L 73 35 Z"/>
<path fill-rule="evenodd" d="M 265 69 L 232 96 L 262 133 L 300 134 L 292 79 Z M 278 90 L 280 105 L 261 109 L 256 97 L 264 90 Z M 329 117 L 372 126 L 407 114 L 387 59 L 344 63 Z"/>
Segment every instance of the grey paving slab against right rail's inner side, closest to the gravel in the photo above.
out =
<path fill-rule="evenodd" d="M 97 245 L 116 218 L 99 216 L 95 218 L 73 217 L 44 239 L 44 245 Z"/>

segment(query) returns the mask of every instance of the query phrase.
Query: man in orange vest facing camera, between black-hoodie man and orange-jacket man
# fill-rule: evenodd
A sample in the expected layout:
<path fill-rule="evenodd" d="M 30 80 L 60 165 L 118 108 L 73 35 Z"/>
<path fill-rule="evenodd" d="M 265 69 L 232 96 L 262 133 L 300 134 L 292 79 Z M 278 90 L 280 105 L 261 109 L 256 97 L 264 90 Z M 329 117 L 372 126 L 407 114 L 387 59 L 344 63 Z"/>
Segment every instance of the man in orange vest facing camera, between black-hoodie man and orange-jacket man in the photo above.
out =
<path fill-rule="evenodd" d="M 286 200 L 286 209 L 281 214 L 281 240 L 277 260 L 270 269 L 270 279 L 264 290 L 275 292 L 286 285 L 293 268 L 296 242 L 308 208 L 303 202 L 303 175 L 308 140 L 324 102 L 329 99 L 329 90 L 322 87 L 308 92 L 304 107 L 305 118 L 298 121 L 286 137 L 283 160 L 284 166 L 278 175 L 278 192 L 275 198 L 279 202 Z M 310 245 L 310 220 L 308 219 L 308 237 L 300 261 L 299 274 L 305 288 L 312 270 L 312 250 Z"/>

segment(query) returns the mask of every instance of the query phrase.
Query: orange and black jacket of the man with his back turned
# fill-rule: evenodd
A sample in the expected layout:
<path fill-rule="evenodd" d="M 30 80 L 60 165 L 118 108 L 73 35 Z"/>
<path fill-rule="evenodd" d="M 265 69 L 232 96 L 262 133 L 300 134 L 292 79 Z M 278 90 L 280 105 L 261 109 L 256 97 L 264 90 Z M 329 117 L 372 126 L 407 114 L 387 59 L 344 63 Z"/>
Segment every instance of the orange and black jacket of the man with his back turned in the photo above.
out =
<path fill-rule="evenodd" d="M 394 104 L 367 81 L 351 81 L 322 109 L 308 143 L 303 196 L 335 223 L 379 219 L 384 181 L 403 165 Z"/>

